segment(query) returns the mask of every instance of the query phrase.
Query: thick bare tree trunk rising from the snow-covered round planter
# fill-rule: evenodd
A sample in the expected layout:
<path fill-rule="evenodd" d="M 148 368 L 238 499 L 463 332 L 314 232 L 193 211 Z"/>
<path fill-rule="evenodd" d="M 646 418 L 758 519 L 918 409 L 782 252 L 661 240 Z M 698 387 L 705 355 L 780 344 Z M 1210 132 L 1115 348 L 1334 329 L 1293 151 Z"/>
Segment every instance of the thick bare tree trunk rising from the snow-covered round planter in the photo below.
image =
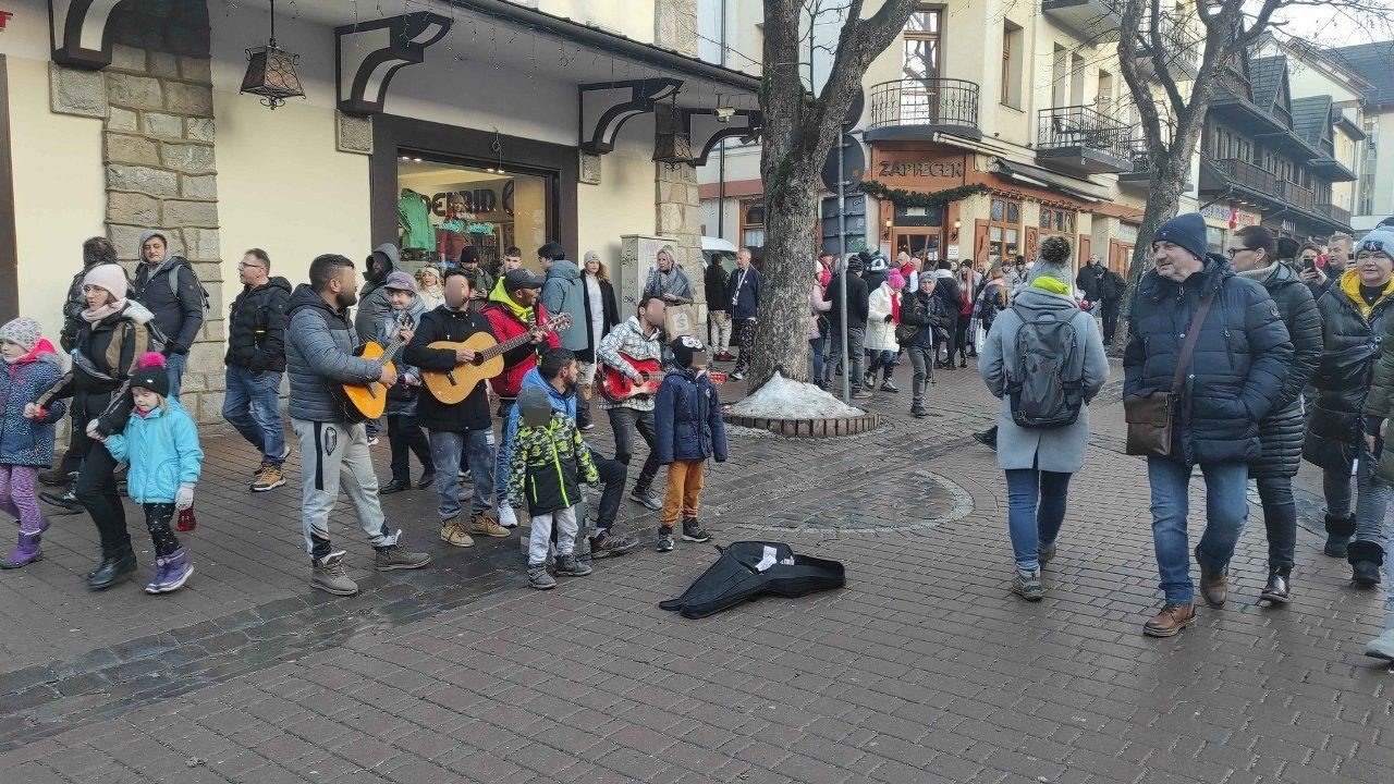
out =
<path fill-rule="evenodd" d="M 842 133 L 842 119 L 861 89 L 867 67 L 901 35 L 920 4 L 885 0 L 875 14 L 861 18 L 863 0 L 848 0 L 839 8 L 845 21 L 832 49 L 828 81 L 814 96 L 800 70 L 800 18 L 810 15 L 811 1 L 764 0 L 760 174 L 765 186 L 765 293 L 750 363 L 751 389 L 776 370 L 809 381 L 809 292 L 818 243 L 822 162 Z"/>

